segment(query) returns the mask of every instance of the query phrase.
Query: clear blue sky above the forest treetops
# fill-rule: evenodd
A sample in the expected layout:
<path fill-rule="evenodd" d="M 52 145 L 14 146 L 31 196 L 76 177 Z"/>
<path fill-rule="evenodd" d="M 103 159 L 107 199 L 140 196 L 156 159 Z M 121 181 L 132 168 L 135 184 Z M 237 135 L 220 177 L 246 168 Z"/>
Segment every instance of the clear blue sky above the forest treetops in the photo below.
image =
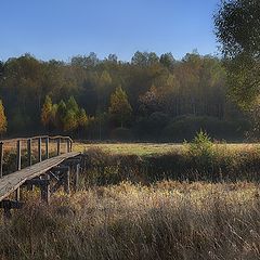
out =
<path fill-rule="evenodd" d="M 68 61 L 95 52 L 129 61 L 140 51 L 216 54 L 220 0 L 1 0 L 0 60 L 29 52 Z"/>

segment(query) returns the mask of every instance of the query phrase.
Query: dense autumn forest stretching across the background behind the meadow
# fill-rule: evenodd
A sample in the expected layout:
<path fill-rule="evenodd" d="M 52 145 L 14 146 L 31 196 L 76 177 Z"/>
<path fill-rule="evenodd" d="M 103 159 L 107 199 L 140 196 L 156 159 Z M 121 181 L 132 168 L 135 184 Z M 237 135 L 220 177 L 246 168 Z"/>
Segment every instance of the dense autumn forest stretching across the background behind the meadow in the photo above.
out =
<path fill-rule="evenodd" d="M 0 62 L 5 135 L 183 141 L 204 129 L 219 140 L 243 139 L 250 123 L 229 100 L 225 81 L 222 61 L 197 52 L 182 60 L 136 52 L 131 62 L 25 54 Z"/>

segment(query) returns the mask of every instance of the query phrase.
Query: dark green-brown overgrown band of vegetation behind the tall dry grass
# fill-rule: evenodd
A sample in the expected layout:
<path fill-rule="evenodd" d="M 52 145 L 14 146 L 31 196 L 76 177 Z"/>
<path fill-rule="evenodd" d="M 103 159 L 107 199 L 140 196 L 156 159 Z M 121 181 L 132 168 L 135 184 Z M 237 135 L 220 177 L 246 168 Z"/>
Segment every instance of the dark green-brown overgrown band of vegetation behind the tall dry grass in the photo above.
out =
<path fill-rule="evenodd" d="M 87 179 L 99 185 L 117 184 L 123 180 L 143 184 L 160 180 L 259 181 L 260 176 L 258 146 L 235 148 L 212 144 L 203 132 L 193 143 L 167 153 L 123 155 L 89 148 L 86 155 Z"/>

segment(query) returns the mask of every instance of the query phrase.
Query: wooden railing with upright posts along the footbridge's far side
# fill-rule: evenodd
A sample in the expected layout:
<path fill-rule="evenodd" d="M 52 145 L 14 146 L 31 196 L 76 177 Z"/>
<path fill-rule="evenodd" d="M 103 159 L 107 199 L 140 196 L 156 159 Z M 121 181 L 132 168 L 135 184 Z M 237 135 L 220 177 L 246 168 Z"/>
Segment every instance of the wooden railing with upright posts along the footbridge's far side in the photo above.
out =
<path fill-rule="evenodd" d="M 15 148 L 16 150 L 16 170 L 22 169 L 22 150 L 26 151 L 26 159 L 27 166 L 32 165 L 32 142 L 37 143 L 37 162 L 42 160 L 42 155 L 44 155 L 46 159 L 50 158 L 50 141 L 54 141 L 55 143 L 55 156 L 61 155 L 62 143 L 66 144 L 66 153 L 70 153 L 73 150 L 73 140 L 69 136 L 56 135 L 39 135 L 32 138 L 16 138 L 16 139 L 8 139 L 0 140 L 0 178 L 3 176 L 3 156 L 4 148 Z M 42 153 L 43 150 L 43 153 Z"/>

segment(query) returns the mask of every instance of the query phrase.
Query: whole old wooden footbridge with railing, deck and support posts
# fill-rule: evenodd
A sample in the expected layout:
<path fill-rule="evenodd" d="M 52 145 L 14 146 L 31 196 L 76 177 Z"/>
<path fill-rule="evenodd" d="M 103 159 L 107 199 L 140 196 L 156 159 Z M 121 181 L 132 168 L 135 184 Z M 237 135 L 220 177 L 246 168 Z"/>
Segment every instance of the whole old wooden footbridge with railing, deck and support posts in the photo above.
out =
<path fill-rule="evenodd" d="M 72 148 L 73 140 L 61 135 L 0 141 L 0 208 L 5 217 L 11 216 L 11 209 L 23 206 L 21 188 L 24 186 L 28 191 L 38 186 L 46 203 L 62 186 L 66 193 L 70 192 L 70 183 L 78 188 L 81 156 Z M 10 151 L 15 151 L 16 171 L 6 173 L 4 155 Z"/>

